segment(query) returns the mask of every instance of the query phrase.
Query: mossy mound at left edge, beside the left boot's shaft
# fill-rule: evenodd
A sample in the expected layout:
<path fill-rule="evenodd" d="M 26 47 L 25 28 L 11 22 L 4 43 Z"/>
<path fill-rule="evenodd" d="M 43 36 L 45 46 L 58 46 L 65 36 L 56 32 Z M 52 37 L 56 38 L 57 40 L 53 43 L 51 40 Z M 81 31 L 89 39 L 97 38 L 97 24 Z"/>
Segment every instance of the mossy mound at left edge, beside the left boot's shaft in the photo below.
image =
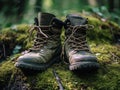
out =
<path fill-rule="evenodd" d="M 10 56 L 16 47 L 19 45 L 22 50 L 28 49 L 31 46 L 28 40 L 30 26 L 27 24 L 14 25 L 10 28 L 0 30 L 0 51 L 3 51 L 3 46 L 6 50 L 6 57 Z M 3 54 L 0 55 L 0 59 Z"/>

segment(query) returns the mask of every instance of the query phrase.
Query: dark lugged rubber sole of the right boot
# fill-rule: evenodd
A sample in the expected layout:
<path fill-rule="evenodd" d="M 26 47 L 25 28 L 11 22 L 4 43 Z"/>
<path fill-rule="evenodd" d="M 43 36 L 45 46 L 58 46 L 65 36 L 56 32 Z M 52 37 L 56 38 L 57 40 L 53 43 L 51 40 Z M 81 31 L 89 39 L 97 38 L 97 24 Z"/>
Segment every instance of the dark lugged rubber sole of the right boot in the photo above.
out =
<path fill-rule="evenodd" d="M 69 65 L 70 70 L 81 70 L 81 71 L 91 71 L 91 70 L 97 70 L 100 67 L 98 62 L 78 62 L 73 65 Z"/>

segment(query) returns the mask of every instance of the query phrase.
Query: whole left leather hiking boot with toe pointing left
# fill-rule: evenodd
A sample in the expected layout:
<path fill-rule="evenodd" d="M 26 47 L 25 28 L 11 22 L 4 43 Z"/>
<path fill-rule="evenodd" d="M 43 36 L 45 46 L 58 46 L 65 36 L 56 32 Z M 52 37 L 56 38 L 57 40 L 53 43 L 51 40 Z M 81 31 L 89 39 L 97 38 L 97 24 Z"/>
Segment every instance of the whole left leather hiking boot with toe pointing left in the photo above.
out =
<path fill-rule="evenodd" d="M 44 70 L 60 60 L 62 26 L 63 22 L 55 18 L 53 14 L 38 13 L 35 25 L 30 30 L 37 32 L 34 45 L 17 59 L 15 66 Z"/>

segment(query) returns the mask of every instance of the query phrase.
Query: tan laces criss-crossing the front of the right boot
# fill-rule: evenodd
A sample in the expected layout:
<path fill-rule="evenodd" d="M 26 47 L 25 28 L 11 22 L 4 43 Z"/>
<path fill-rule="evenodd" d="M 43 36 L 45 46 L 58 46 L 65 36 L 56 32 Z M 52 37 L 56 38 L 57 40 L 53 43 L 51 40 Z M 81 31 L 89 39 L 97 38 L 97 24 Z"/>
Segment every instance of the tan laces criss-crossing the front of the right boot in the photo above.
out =
<path fill-rule="evenodd" d="M 93 25 L 79 25 L 79 26 L 70 26 L 70 29 L 72 28 L 72 33 L 65 41 L 66 43 L 69 43 L 70 48 L 74 48 L 75 51 L 89 51 L 89 47 L 86 40 L 86 30 L 93 29 Z M 77 32 L 80 30 L 80 32 Z"/>

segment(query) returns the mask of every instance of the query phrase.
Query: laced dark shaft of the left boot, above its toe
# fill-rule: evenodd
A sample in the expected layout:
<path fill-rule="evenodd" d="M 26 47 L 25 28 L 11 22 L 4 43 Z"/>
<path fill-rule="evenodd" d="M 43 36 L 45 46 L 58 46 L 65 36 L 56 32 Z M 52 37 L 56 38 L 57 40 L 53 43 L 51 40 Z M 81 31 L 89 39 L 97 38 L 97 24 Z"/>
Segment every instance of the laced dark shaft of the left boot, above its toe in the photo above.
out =
<path fill-rule="evenodd" d="M 35 30 L 37 30 L 35 38 L 35 47 L 57 47 L 61 44 L 61 28 L 63 22 L 50 13 L 38 13 L 38 18 L 34 19 Z"/>

